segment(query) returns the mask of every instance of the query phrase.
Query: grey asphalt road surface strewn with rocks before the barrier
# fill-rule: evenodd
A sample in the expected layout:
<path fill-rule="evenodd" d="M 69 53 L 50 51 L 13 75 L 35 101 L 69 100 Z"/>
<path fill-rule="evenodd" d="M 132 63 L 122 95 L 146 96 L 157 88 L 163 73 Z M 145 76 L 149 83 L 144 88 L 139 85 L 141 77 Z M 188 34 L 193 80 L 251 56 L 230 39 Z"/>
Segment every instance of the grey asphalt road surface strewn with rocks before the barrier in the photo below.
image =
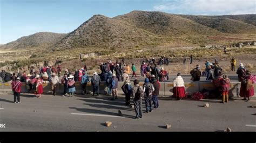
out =
<path fill-rule="evenodd" d="M 124 96 L 110 100 L 110 96 L 21 96 L 13 103 L 12 94 L 0 94 L 0 131 L 219 131 L 227 127 L 232 131 L 256 131 L 255 98 L 251 102 L 239 99 L 227 104 L 220 99 L 177 101 L 170 97 L 159 98 L 159 108 L 143 113 L 134 119 L 133 108 L 125 106 Z M 203 107 L 209 103 L 210 107 Z M 118 115 L 118 110 L 123 117 Z M 143 105 L 143 111 L 145 105 Z M 106 127 L 104 123 L 111 121 Z M 171 128 L 165 129 L 165 124 Z"/>

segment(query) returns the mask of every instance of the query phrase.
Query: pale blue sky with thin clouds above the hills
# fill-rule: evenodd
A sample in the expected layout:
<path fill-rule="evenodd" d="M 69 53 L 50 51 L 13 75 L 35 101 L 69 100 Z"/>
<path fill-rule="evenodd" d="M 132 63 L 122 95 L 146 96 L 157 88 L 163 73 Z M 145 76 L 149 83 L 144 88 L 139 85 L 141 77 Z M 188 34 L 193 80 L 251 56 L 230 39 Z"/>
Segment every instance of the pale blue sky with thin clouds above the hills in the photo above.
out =
<path fill-rule="evenodd" d="M 36 32 L 68 33 L 93 15 L 132 10 L 190 15 L 256 13 L 255 0 L 0 0 L 0 44 Z"/>

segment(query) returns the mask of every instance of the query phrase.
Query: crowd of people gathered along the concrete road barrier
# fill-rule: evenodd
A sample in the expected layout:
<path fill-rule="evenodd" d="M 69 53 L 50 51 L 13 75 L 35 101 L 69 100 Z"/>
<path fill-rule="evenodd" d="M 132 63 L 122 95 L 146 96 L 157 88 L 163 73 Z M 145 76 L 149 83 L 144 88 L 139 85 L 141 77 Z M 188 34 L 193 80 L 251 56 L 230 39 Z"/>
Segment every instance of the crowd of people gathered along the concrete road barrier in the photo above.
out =
<path fill-rule="evenodd" d="M 236 64 L 235 59 L 232 58 L 230 63 L 231 69 L 234 71 Z M 145 77 L 143 86 L 139 86 L 139 80 L 137 79 L 136 75 L 136 66 L 132 63 L 130 67 L 130 64 L 125 63 L 124 59 L 121 61 L 117 60 L 115 63 L 109 60 L 106 63 L 101 63 L 99 67 L 101 73 L 98 74 L 96 71 L 93 72 L 91 81 L 86 73 L 86 64 L 81 69 L 76 69 L 74 74 L 72 74 L 70 70 L 65 69 L 63 77 L 61 77 L 62 70 L 60 65 L 57 65 L 57 68 L 52 65 L 45 65 L 39 68 L 39 71 L 35 70 L 35 67 L 32 66 L 29 74 L 23 72 L 22 74 L 18 73 L 16 76 L 16 74 L 13 73 L 12 75 L 9 75 L 9 78 L 12 81 L 14 103 L 20 103 L 19 94 L 21 93 L 22 82 L 25 82 L 26 88 L 29 91 L 32 90 L 38 98 L 40 98 L 43 94 L 43 84 L 48 82 L 51 84 L 53 96 L 56 96 L 57 85 L 63 84 L 63 96 L 68 97 L 72 97 L 74 93 L 76 93 L 76 82 L 80 82 L 82 85 L 84 95 L 87 94 L 87 83 L 91 82 L 93 87 L 92 96 L 99 95 L 99 86 L 102 82 L 105 82 L 107 85 L 107 95 L 111 96 L 112 94 L 111 100 L 115 100 L 118 98 L 118 81 L 123 81 L 122 90 L 125 93 L 125 105 L 131 105 L 130 101 L 133 99 L 134 109 L 136 110 L 136 118 L 142 118 L 142 98 L 145 100 L 145 113 L 151 112 L 152 108 L 159 107 L 159 82 L 169 80 L 169 73 L 164 70 L 164 67 L 159 69 L 154 58 L 152 58 L 152 60 L 143 61 L 140 65 L 140 74 L 142 77 Z M 5 71 L 2 70 L 0 73 L 1 77 L 4 73 Z M 130 83 L 129 74 L 132 74 L 131 78 L 135 78 L 133 81 L 133 87 Z M 205 70 L 203 72 L 200 69 L 200 65 L 197 65 L 190 71 L 190 74 L 192 76 L 192 81 L 200 81 L 200 77 L 202 75 L 206 76 L 206 80 L 212 80 L 213 84 L 217 87 L 219 94 L 222 96 L 221 103 L 228 102 L 230 79 L 226 74 L 223 74 L 223 70 L 219 66 L 217 59 L 215 59 L 213 63 L 206 60 Z M 239 68 L 237 69 L 237 74 L 238 79 L 241 82 L 239 94 L 241 97 L 244 97 L 244 100 L 249 101 L 250 97 L 254 95 L 253 84 L 256 82 L 256 77 L 252 76 L 251 72 L 246 70 L 242 63 L 240 63 Z M 59 77 L 62 79 L 59 80 Z M 178 100 L 186 97 L 184 80 L 181 77 L 181 73 L 178 73 L 177 77 L 173 79 L 173 96 Z"/>

